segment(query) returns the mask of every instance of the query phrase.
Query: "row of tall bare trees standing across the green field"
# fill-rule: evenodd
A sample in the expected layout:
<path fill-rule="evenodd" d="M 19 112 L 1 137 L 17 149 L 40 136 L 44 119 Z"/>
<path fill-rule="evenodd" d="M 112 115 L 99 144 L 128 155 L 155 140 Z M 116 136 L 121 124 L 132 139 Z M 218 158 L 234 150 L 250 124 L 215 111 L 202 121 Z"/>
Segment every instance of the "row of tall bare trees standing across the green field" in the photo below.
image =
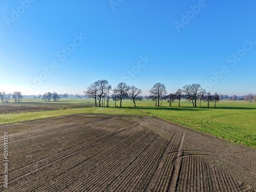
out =
<path fill-rule="evenodd" d="M 200 101 L 207 101 L 207 105 L 209 106 L 210 102 L 219 102 L 220 96 L 218 93 L 211 94 L 210 92 L 206 93 L 206 91 L 201 88 L 200 84 L 189 84 L 185 85 L 182 89 L 178 89 L 176 93 L 170 93 L 167 95 L 166 87 L 163 83 L 156 83 L 149 91 L 150 99 L 156 101 L 156 106 L 161 106 L 163 100 L 168 100 L 169 105 L 172 105 L 174 100 L 179 101 L 182 98 L 186 98 L 187 100 L 193 103 L 193 106 L 197 106 L 198 100 Z M 135 86 L 128 86 L 124 82 L 120 82 L 117 86 L 112 89 L 112 86 L 109 84 L 109 81 L 97 80 L 92 83 L 88 88 L 87 91 L 84 91 L 84 95 L 89 98 L 93 98 L 95 101 L 95 106 L 109 106 L 109 100 L 112 98 L 115 101 L 115 106 L 117 106 L 116 102 L 120 101 L 120 106 L 122 106 L 123 99 L 131 99 L 136 107 L 136 101 L 142 99 L 142 91 L 141 89 L 136 88 Z"/>

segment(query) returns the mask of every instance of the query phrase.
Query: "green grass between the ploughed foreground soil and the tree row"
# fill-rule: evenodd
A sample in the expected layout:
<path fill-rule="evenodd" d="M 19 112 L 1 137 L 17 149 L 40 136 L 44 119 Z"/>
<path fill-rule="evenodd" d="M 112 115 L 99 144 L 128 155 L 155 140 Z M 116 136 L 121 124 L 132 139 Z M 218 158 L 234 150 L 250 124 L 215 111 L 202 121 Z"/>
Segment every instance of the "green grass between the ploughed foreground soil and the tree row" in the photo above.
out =
<path fill-rule="evenodd" d="M 28 112 L 0 115 L 0 124 L 20 123 L 62 115 L 79 113 L 120 114 L 157 116 L 164 120 L 224 138 L 234 143 L 256 148 L 255 110 L 243 109 L 207 109 L 207 108 L 71 108 L 65 110 Z"/>

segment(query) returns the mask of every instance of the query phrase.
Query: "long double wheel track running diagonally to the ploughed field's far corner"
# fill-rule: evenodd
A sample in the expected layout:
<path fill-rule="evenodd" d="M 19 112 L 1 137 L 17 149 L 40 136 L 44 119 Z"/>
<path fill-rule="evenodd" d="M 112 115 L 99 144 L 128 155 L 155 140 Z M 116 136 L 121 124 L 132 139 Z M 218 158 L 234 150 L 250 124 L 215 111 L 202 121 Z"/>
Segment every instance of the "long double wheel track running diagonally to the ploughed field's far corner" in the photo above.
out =
<path fill-rule="evenodd" d="M 60 157 L 60 158 L 57 158 L 57 159 L 56 159 L 56 158 L 53 158 L 53 157 L 55 157 L 55 156 L 59 156 L 59 155 L 62 154 L 62 153 L 65 153 L 66 151 L 68 151 L 67 149 L 66 149 L 66 150 L 63 150 L 63 151 L 61 151 L 61 152 L 58 152 L 58 153 L 56 153 L 56 154 L 54 154 L 54 155 L 51 155 L 51 156 L 42 158 L 42 159 L 40 159 L 40 160 L 38 160 L 38 161 L 31 162 L 31 163 L 25 165 L 25 166 L 22 167 L 22 168 L 18 168 L 18 169 L 16 169 L 16 170 L 13 170 L 12 172 L 10 172 L 10 174 L 16 173 L 16 172 L 18 172 L 18 171 L 19 171 L 19 172 L 22 172 L 23 174 L 22 174 L 22 173 L 16 174 L 16 175 L 19 175 L 19 177 L 13 179 L 12 181 L 14 182 L 14 181 L 16 181 L 16 180 L 18 180 L 18 179 L 20 179 L 20 178 L 25 177 L 26 175 L 29 175 L 29 174 L 31 174 L 31 173 L 33 173 L 33 172 L 36 172 L 36 171 L 38 171 L 38 170 L 41 169 L 41 168 L 44 168 L 45 166 L 49 166 L 50 164 L 53 164 L 54 162 L 58 162 L 58 161 L 61 160 L 61 159 L 65 159 L 65 158 L 67 158 L 67 157 L 70 157 L 70 156 L 72 156 L 73 154 L 76 154 L 76 153 L 82 151 L 84 148 L 87 148 L 87 147 L 89 147 L 89 146 L 92 146 L 92 145 L 94 145 L 94 144 L 96 144 L 96 143 L 98 143 L 98 142 L 100 142 L 100 141 L 102 141 L 102 140 L 105 140 L 105 139 L 108 139 L 108 138 L 110 138 L 110 137 L 113 137 L 114 135 L 116 135 L 116 134 L 118 134 L 118 133 L 121 133 L 121 132 L 123 132 L 123 131 L 125 131 L 125 130 L 127 130 L 127 129 L 129 129 L 129 128 L 131 128 L 131 127 L 137 125 L 137 124 L 139 124 L 140 121 L 144 121 L 144 119 L 140 119 L 140 120 L 137 120 L 137 121 L 135 121 L 135 122 L 129 123 L 129 124 L 127 124 L 127 125 L 130 125 L 130 124 L 133 124 L 133 125 L 130 125 L 130 126 L 126 127 L 126 128 L 125 128 L 125 126 L 127 126 L 127 125 L 124 125 L 123 127 L 119 128 L 119 129 L 117 129 L 117 130 L 115 130 L 115 131 L 113 131 L 113 132 L 110 132 L 110 133 L 104 134 L 103 136 L 100 136 L 100 137 L 98 137 L 98 138 L 89 140 L 89 141 L 91 141 L 92 143 L 89 143 L 89 141 L 86 141 L 86 142 L 84 142 L 84 143 L 78 144 L 78 145 L 76 145 L 76 147 L 77 147 L 77 146 L 80 146 L 80 145 L 86 145 L 86 144 L 87 144 L 87 145 L 86 145 L 86 146 L 83 146 L 82 148 L 78 148 L 78 149 L 75 150 L 75 151 L 74 151 L 74 146 L 69 147 L 68 150 L 73 149 L 72 152 L 69 153 L 69 154 L 67 154 L 67 155 L 64 154 L 63 157 Z M 53 158 L 53 160 L 51 160 L 51 161 L 49 161 L 49 162 L 47 162 L 47 163 L 45 163 L 45 164 L 41 164 L 41 165 L 39 165 L 39 166 L 33 168 L 32 170 L 29 170 L 29 172 L 24 173 L 24 169 L 26 169 L 26 168 L 28 168 L 28 167 L 30 167 L 30 169 L 31 169 L 31 165 L 32 165 L 32 164 L 33 164 L 33 165 L 37 165 L 39 162 L 45 161 L 45 160 L 47 160 L 47 159 L 49 159 L 49 158 Z M 21 176 L 20 176 L 20 175 L 21 175 Z"/>

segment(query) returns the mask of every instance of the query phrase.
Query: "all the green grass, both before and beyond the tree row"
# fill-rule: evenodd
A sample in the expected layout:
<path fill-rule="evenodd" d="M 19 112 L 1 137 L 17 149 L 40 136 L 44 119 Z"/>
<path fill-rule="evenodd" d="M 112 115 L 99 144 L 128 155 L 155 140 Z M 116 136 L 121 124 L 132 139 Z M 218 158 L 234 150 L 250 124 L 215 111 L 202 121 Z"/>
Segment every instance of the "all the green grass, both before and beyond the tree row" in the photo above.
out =
<path fill-rule="evenodd" d="M 33 102 L 34 105 L 45 103 L 39 99 L 24 99 L 24 102 Z M 49 106 L 53 103 L 49 102 Z M 58 103 L 93 103 L 93 100 L 61 99 Z M 117 104 L 119 105 L 119 101 Z M 122 105 L 122 108 L 115 108 L 114 101 L 111 101 L 110 108 L 70 108 L 55 111 L 3 114 L 0 115 L 0 124 L 76 113 L 149 115 L 221 137 L 234 143 L 256 148 L 256 102 L 221 101 L 217 103 L 216 108 L 214 108 L 214 103 L 210 103 L 210 107 L 207 108 L 205 102 L 202 102 L 201 107 L 199 107 L 199 102 L 197 107 L 193 107 L 192 103 L 188 101 L 182 101 L 180 107 L 177 101 L 173 102 L 172 106 L 163 101 L 161 107 L 156 107 L 154 101 L 151 100 L 138 101 L 136 103 L 137 108 L 133 108 L 133 102 L 130 100 L 124 100 Z"/>

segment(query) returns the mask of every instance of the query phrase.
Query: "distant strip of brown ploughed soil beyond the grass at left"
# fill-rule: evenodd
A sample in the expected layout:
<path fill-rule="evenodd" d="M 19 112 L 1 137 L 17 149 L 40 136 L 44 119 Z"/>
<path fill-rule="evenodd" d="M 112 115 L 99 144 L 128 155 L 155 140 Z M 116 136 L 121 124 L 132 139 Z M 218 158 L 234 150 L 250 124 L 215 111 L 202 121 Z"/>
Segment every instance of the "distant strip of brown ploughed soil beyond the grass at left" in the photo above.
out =
<path fill-rule="evenodd" d="M 0 103 L 0 114 L 27 113 L 37 111 L 63 110 L 68 108 L 86 108 L 93 104 L 80 103 L 53 103 L 53 102 L 20 102 L 20 103 Z"/>

